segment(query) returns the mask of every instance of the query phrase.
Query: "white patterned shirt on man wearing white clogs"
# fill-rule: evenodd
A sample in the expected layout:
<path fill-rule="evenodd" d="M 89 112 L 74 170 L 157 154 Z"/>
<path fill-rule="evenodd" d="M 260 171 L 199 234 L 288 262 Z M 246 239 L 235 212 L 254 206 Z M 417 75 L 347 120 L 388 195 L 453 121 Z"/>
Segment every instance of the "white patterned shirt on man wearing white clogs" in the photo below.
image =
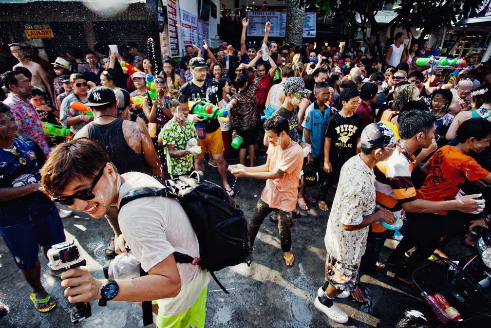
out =
<path fill-rule="evenodd" d="M 359 265 L 369 227 L 348 231 L 343 225 L 359 225 L 374 211 L 375 175 L 359 155 L 353 156 L 341 168 L 324 237 L 327 253 L 344 264 Z"/>

